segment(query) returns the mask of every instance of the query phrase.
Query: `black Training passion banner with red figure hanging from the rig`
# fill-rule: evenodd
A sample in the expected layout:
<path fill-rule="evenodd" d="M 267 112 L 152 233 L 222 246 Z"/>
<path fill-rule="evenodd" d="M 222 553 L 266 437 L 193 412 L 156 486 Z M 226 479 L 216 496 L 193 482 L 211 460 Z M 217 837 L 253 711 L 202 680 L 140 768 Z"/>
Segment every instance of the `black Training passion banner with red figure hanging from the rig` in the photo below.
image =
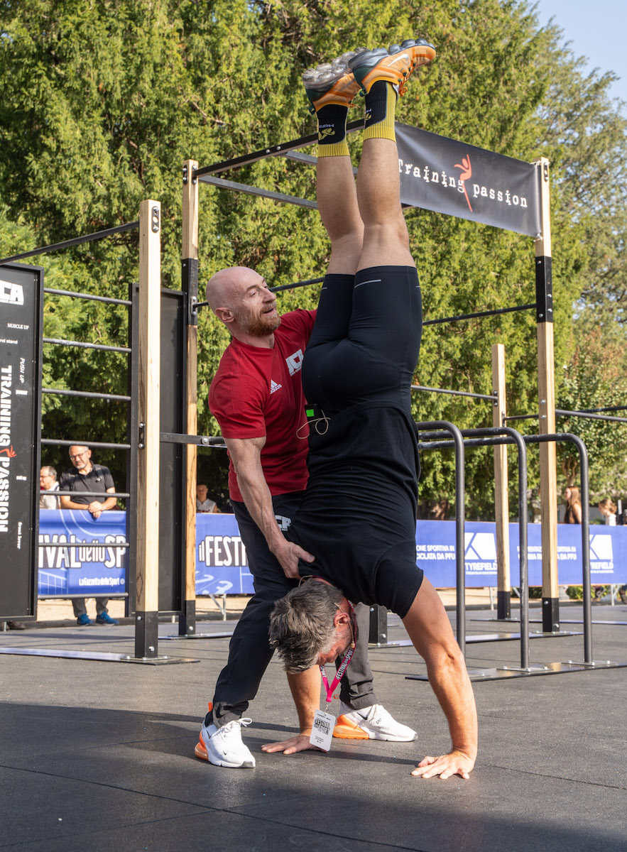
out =
<path fill-rule="evenodd" d="M 540 234 L 540 168 L 396 124 L 400 200 L 507 231 Z"/>

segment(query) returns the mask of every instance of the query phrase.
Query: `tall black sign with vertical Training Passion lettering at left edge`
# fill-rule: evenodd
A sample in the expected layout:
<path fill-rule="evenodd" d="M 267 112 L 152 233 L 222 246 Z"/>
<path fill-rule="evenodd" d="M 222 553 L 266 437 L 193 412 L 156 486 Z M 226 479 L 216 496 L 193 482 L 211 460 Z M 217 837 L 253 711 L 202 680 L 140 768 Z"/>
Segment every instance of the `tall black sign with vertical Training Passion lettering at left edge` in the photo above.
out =
<path fill-rule="evenodd" d="M 0 266 L 0 619 L 35 615 L 43 269 Z"/>

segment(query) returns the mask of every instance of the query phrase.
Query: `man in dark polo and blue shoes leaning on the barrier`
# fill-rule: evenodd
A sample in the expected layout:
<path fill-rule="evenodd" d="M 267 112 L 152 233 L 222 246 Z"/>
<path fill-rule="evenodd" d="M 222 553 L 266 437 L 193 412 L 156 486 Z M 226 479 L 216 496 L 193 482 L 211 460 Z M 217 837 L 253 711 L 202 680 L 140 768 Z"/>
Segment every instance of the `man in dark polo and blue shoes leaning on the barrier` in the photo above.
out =
<path fill-rule="evenodd" d="M 89 446 L 71 446 L 70 461 L 73 469 L 61 474 L 60 491 L 72 491 L 76 494 L 72 494 L 72 497 L 61 497 L 61 509 L 87 509 L 95 521 L 106 509 L 115 509 L 117 499 L 105 497 L 106 494 L 115 492 L 111 471 L 101 464 L 92 463 Z M 85 492 L 95 492 L 102 496 L 90 497 Z M 106 611 L 107 602 L 106 598 L 95 599 L 96 624 L 118 625 L 119 622 L 112 619 Z M 93 623 L 87 614 L 83 597 L 72 597 L 72 607 L 80 627 Z"/>

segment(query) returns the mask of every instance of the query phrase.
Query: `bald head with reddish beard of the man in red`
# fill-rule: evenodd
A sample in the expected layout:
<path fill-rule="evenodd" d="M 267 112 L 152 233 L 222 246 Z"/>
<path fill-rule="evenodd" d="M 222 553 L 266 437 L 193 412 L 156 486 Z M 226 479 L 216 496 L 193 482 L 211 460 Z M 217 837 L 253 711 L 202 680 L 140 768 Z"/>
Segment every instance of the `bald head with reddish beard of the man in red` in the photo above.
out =
<path fill-rule="evenodd" d="M 209 279 L 206 293 L 211 310 L 233 337 L 253 345 L 273 345 L 273 331 L 281 321 L 276 296 L 254 269 L 221 269 Z"/>

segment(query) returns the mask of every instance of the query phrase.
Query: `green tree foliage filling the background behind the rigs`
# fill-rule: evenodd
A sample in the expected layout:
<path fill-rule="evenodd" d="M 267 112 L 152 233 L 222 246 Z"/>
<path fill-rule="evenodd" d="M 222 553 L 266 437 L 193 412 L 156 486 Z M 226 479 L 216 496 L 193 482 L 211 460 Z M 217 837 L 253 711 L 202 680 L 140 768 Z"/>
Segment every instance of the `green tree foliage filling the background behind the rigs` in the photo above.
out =
<path fill-rule="evenodd" d="M 359 43 L 424 35 L 438 58 L 411 81 L 400 121 L 526 161 L 551 160 L 555 360 L 569 364 L 573 306 L 590 305 L 608 326 L 622 319 L 627 143 L 624 119 L 608 100 L 611 75 L 584 76 L 580 60 L 560 46 L 560 32 L 539 29 L 527 3 L 434 0 L 417 8 L 408 0 L 354 0 L 350 13 L 339 0 L 0 0 L 4 254 L 132 221 L 141 200 L 153 198 L 162 204 L 164 285 L 179 289 L 183 161 L 207 165 L 313 132 L 304 68 Z M 349 145 L 356 164 L 360 135 L 350 135 Z M 225 176 L 315 196 L 314 169 L 282 157 Z M 279 285 L 324 272 L 329 246 L 314 211 L 204 185 L 199 191 L 201 282 L 234 263 Z M 427 211 L 409 211 L 407 223 L 427 319 L 534 301 L 531 240 Z M 41 263 L 48 286 L 127 298 L 137 278 L 137 235 Z M 312 308 L 316 296 L 315 287 L 287 291 L 279 304 Z M 534 326 L 531 313 L 428 326 L 416 382 L 490 393 L 490 346 L 504 343 L 509 413 L 533 412 Z M 44 331 L 125 346 L 126 311 L 49 296 Z M 205 400 L 226 344 L 226 330 L 201 314 L 202 434 L 216 433 Z M 587 337 L 578 338 L 577 351 L 587 345 Z M 124 354 L 50 345 L 44 354 L 44 385 L 126 393 Z M 583 354 L 578 358 L 583 364 Z M 570 371 L 556 372 L 560 404 L 571 407 Z M 595 403 L 612 404 L 606 397 Z M 440 394 L 417 394 L 414 415 L 462 427 L 492 423 L 490 403 Z M 125 407 L 114 403 L 46 395 L 43 426 L 59 438 L 126 440 Z M 597 449 L 601 472 L 610 457 Z M 98 458 L 121 484 L 119 454 Z M 200 458 L 203 478 L 220 497 L 225 457 Z M 530 486 L 536 464 L 532 454 Z M 466 478 L 469 516 L 491 517 L 491 451 L 468 453 Z M 451 499 L 452 483 L 452 453 L 425 453 L 423 503 Z M 515 505 L 515 481 L 511 487 Z"/>

